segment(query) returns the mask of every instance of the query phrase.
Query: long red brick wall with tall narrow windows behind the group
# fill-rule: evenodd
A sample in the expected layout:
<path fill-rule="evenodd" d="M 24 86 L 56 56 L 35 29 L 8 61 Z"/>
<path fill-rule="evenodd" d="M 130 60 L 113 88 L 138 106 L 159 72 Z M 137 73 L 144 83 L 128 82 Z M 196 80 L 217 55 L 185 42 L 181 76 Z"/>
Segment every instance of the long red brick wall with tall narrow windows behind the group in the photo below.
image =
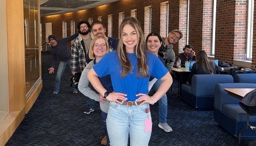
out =
<path fill-rule="evenodd" d="M 129 1 L 120 0 L 118 2 L 91 8 L 88 10 L 81 10 L 67 14 L 52 15 L 41 17 L 42 38 L 45 38 L 45 23 L 52 22 L 52 34 L 56 38 L 62 37 L 62 21 L 67 22 L 67 36 L 71 35 L 71 20 L 76 23 L 80 19 L 88 20 L 98 19 L 101 16 L 102 22 L 106 27 L 106 34 L 108 31 L 112 37 L 118 37 L 119 28 L 119 13 L 123 12 L 124 16 L 134 16 L 136 10 L 137 19 L 140 21 L 141 28 L 145 31 L 145 36 L 150 33 L 148 31 L 148 17 L 145 15 L 147 11 L 145 8 L 152 8 L 151 32 L 161 33 L 164 35 L 164 28 L 166 21 L 162 16 L 166 15 L 162 12 L 164 3 L 169 5 L 169 23 L 168 30 L 170 32 L 174 29 L 179 29 L 183 33 L 183 38 L 174 45 L 176 54 L 182 52 L 183 46 L 186 44 L 187 37 L 187 0 L 144 0 L 144 1 Z M 255 3 L 254 2 L 254 23 L 253 23 L 253 40 L 256 40 L 255 30 Z M 239 0 L 218 0 L 216 13 L 216 43 L 215 43 L 215 59 L 233 63 L 233 59 L 241 59 L 241 55 L 245 52 L 245 35 L 246 35 L 246 1 Z M 110 18 L 112 15 L 112 27 L 110 27 Z M 193 45 L 196 53 L 203 49 L 210 55 L 211 49 L 211 24 L 212 23 L 212 2 L 211 0 L 190 0 L 189 7 L 189 44 Z M 167 27 L 167 26 L 166 26 Z M 160 31 L 161 30 L 161 31 Z M 45 47 L 44 45 L 42 47 Z M 252 51 L 252 68 L 255 68 L 255 54 L 256 44 L 253 42 Z"/>

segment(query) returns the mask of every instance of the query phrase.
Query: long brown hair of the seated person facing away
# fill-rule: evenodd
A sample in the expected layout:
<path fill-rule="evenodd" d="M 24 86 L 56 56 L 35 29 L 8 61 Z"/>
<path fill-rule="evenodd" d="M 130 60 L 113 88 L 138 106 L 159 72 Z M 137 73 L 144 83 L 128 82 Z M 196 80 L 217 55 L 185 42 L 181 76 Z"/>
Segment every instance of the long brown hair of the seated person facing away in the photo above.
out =
<path fill-rule="evenodd" d="M 204 50 L 199 51 L 197 55 L 197 62 L 202 63 L 204 72 L 206 72 L 207 74 L 214 74 L 214 68 L 215 68 L 214 62 L 208 59 L 207 54 Z"/>

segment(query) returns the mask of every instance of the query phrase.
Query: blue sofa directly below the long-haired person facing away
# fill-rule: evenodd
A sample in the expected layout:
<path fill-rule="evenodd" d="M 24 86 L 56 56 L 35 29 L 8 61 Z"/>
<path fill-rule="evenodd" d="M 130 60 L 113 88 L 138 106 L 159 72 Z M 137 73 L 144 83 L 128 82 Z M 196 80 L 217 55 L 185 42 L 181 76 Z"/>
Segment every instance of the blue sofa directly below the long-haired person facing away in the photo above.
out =
<path fill-rule="evenodd" d="M 182 84 L 181 99 L 199 110 L 213 110 L 215 86 L 233 83 L 231 75 L 194 75 L 191 85 Z"/>

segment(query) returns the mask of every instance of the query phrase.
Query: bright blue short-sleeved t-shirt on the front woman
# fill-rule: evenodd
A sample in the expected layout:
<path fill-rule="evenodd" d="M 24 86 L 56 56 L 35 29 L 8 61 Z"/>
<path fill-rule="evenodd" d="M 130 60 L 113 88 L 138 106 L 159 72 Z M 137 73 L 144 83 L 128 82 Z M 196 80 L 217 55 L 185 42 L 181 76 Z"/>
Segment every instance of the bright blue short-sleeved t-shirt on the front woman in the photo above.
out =
<path fill-rule="evenodd" d="M 163 63 L 161 63 L 158 57 L 153 53 L 145 53 L 148 75 L 157 79 L 160 79 L 166 75 L 168 70 L 165 68 Z M 127 94 L 127 101 L 135 101 L 139 98 L 136 96 L 136 94 L 148 94 L 148 81 L 150 77 L 137 78 L 137 57 L 134 53 L 127 54 L 127 57 L 131 61 L 134 68 L 133 72 L 129 71 L 124 78 L 120 77 L 121 65 L 119 64 L 117 51 L 106 54 L 97 64 L 93 66 L 93 69 L 99 77 L 111 75 L 114 91 Z"/>

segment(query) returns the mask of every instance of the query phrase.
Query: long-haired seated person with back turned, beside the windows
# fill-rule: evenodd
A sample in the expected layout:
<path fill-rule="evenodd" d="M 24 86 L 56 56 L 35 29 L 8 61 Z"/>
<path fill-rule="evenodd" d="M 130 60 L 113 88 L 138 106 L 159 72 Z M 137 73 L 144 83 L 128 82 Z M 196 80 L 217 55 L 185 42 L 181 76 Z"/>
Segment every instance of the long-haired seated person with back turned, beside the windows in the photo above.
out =
<path fill-rule="evenodd" d="M 217 66 L 214 61 L 207 58 L 207 54 L 204 50 L 200 50 L 197 56 L 197 61 L 192 66 L 187 83 L 191 84 L 193 75 L 220 74 L 221 70 L 222 68 L 220 66 Z"/>

